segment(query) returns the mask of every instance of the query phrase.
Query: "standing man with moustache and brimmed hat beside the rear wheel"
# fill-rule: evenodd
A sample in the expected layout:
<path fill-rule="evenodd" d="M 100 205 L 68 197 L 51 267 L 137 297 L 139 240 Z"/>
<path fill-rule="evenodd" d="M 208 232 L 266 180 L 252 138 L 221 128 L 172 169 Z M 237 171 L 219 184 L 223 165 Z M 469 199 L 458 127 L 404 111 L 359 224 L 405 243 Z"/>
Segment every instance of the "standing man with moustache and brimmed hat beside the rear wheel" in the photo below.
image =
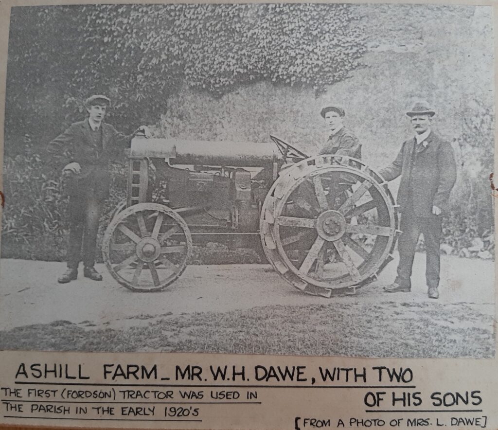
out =
<path fill-rule="evenodd" d="M 398 241 L 397 277 L 387 292 L 411 289 L 411 272 L 420 233 L 426 249 L 427 295 L 438 298 L 440 272 L 441 217 L 448 211 L 448 200 L 456 180 L 456 162 L 451 144 L 431 130 L 435 115 L 427 102 L 417 102 L 406 113 L 415 137 L 401 145 L 394 162 L 379 171 L 390 181 L 401 175 L 397 203 L 401 211 Z"/>

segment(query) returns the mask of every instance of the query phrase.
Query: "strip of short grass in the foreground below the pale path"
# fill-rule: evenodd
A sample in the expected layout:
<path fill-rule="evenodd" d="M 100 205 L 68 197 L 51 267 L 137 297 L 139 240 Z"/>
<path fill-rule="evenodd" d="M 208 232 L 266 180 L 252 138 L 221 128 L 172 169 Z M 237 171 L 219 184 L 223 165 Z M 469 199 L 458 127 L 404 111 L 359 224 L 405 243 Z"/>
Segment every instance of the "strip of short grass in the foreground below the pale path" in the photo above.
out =
<path fill-rule="evenodd" d="M 464 303 L 264 306 L 128 322 L 123 329 L 96 328 L 91 321 L 17 327 L 0 332 L 0 348 L 483 358 L 495 350 L 493 318 Z"/>

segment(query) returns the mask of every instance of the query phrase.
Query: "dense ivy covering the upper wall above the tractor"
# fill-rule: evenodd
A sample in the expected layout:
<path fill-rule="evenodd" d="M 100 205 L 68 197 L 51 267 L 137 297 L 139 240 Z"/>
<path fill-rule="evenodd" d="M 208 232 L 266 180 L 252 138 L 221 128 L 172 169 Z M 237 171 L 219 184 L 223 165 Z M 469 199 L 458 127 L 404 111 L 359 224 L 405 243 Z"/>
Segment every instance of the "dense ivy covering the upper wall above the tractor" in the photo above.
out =
<path fill-rule="evenodd" d="M 118 128 L 154 122 L 181 85 L 215 96 L 257 80 L 321 91 L 365 52 L 351 5 L 170 4 L 12 9 L 7 150 L 56 134 L 89 94 Z"/>

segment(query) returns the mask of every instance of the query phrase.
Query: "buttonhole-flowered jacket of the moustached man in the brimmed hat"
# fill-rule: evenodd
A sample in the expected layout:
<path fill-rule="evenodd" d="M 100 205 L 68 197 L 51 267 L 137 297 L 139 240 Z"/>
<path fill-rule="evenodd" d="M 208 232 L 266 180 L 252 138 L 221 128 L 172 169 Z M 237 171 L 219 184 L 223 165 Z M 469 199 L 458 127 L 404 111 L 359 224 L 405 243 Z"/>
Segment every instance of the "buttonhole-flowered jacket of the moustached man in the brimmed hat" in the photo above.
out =
<path fill-rule="evenodd" d="M 401 175 L 397 203 L 400 210 L 410 210 L 418 217 L 435 217 L 432 206 L 448 211 L 457 167 L 451 144 L 433 131 L 417 144 L 415 138 L 403 142 L 394 162 L 379 171 L 390 181 Z"/>

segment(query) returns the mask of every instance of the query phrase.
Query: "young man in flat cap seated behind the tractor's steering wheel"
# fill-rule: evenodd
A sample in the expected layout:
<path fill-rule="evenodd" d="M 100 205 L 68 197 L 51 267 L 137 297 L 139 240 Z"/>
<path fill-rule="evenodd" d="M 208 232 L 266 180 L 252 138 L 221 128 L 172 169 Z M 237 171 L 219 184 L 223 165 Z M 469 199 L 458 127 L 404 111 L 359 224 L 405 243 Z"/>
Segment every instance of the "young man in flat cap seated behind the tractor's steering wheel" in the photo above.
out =
<path fill-rule="evenodd" d="M 321 154 L 347 155 L 353 158 L 362 158 L 362 145 L 358 138 L 344 127 L 344 109 L 339 106 L 326 106 L 320 112 L 326 121 L 330 136 Z"/>

